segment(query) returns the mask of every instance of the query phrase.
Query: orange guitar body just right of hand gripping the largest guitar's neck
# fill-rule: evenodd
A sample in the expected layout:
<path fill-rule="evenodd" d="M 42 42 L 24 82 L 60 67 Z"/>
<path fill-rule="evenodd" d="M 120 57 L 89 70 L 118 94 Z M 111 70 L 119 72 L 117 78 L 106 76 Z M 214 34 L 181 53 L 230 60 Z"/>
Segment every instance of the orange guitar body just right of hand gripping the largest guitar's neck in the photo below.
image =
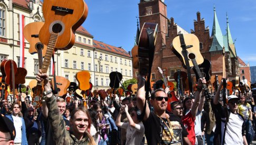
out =
<path fill-rule="evenodd" d="M 52 77 L 51 82 L 52 86 L 54 86 L 54 77 Z M 56 85 L 58 88 L 57 91 L 59 92 L 59 96 L 62 97 L 67 94 L 67 89 L 69 88 L 70 81 L 65 77 L 56 76 Z"/>

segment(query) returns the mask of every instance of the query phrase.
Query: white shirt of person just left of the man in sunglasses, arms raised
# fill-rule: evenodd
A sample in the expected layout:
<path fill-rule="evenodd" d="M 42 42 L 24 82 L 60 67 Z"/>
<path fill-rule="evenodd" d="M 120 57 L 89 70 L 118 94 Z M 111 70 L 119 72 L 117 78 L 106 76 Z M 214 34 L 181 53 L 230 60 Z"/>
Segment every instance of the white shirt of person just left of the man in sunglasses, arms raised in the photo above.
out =
<path fill-rule="evenodd" d="M 141 144 L 145 131 L 143 122 L 136 124 L 135 128 L 132 128 L 129 123 L 122 123 L 121 128 L 127 129 L 126 144 Z"/>

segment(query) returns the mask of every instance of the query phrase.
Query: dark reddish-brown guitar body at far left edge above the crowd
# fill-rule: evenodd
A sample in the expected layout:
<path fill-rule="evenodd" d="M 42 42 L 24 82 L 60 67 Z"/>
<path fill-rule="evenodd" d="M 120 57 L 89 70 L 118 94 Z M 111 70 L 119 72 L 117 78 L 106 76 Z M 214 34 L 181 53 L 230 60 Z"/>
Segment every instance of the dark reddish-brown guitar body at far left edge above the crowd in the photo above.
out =
<path fill-rule="evenodd" d="M 2 64 L 4 63 L 4 68 L 3 68 L 4 71 L 2 71 L 2 69 L 1 69 L 1 72 L 2 72 L 2 75 L 3 75 L 2 76 L 2 82 L 5 82 L 5 84 L 10 85 L 11 88 L 13 87 L 12 82 L 15 81 L 15 78 L 13 80 L 13 77 L 12 77 L 12 61 L 13 60 L 6 60 L 6 61 L 4 60 L 2 62 Z M 2 64 L 1 64 L 1 66 L 2 66 Z M 15 61 L 13 61 L 13 68 L 14 68 L 13 73 L 14 73 L 14 76 L 15 76 L 15 74 L 17 72 L 17 64 L 15 63 Z M 15 89 L 16 88 L 17 87 L 15 85 Z"/>

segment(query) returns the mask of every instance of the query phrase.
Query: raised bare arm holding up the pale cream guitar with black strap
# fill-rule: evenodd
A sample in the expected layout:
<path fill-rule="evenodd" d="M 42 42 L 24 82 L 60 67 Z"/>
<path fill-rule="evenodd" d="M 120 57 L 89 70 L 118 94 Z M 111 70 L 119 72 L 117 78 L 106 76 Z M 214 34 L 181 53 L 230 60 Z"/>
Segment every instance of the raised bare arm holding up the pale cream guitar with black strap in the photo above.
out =
<path fill-rule="evenodd" d="M 202 96 L 202 87 L 203 87 L 202 83 L 206 84 L 206 80 L 205 79 L 198 79 L 198 86 L 197 86 L 197 91 L 196 91 L 196 95 L 195 95 L 195 101 L 194 101 L 194 103 L 192 105 L 192 108 L 191 108 L 191 114 L 192 114 L 193 117 L 196 116 L 198 106 L 200 105 L 200 98 Z"/>

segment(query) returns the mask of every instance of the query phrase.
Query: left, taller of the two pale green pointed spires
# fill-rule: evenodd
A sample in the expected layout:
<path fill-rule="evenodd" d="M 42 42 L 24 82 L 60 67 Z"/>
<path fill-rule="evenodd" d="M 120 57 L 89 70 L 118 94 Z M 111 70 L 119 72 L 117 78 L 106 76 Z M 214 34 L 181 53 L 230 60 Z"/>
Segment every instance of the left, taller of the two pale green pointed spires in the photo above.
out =
<path fill-rule="evenodd" d="M 219 44 L 221 45 L 221 47 L 223 47 L 223 35 L 221 32 L 221 27 L 216 15 L 216 10 L 215 10 L 215 6 L 214 6 L 214 17 L 213 17 L 213 29 L 212 29 L 212 36 L 216 36 L 217 41 L 219 42 Z"/>

